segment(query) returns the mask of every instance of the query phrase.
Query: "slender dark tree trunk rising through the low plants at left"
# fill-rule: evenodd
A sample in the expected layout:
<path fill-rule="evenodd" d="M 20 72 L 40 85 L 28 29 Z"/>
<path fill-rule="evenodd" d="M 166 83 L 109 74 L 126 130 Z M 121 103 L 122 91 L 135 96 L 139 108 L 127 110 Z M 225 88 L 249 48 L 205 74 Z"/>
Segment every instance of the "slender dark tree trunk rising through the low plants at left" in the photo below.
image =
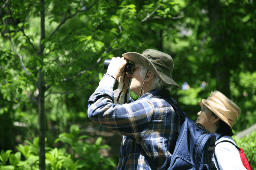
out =
<path fill-rule="evenodd" d="M 45 0 L 40 0 L 41 2 L 41 41 L 39 44 L 39 57 L 43 60 L 44 47 L 42 45 L 42 40 L 45 39 Z M 44 112 L 44 74 L 42 68 L 39 68 L 39 80 L 37 82 L 38 94 L 38 113 L 39 113 L 39 142 L 38 142 L 38 155 L 39 155 L 39 169 L 45 170 L 45 112 Z"/>

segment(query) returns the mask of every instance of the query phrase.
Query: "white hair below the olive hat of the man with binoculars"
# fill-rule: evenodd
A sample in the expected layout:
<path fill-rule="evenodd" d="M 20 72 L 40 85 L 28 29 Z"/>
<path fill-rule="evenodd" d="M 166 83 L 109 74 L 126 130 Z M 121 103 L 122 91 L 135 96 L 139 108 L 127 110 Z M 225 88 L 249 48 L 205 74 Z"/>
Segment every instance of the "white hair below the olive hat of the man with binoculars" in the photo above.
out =
<path fill-rule="evenodd" d="M 146 72 L 147 72 L 147 68 L 141 67 L 139 69 L 139 71 L 140 71 L 140 76 L 144 78 L 145 75 L 146 75 Z M 173 85 L 165 83 L 162 79 L 160 79 L 159 77 L 157 77 L 155 75 L 155 77 L 152 79 L 151 86 L 156 87 L 156 88 L 161 89 L 161 90 L 166 89 L 169 92 L 171 92 Z"/>

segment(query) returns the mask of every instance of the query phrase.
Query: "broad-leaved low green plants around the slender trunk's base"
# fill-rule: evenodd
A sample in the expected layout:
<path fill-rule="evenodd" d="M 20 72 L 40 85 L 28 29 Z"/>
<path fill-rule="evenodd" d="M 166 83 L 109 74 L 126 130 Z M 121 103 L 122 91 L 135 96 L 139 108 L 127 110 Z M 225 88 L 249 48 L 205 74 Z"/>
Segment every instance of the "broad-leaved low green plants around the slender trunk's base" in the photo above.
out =
<path fill-rule="evenodd" d="M 77 125 L 70 127 L 71 133 L 61 133 L 55 142 L 62 141 L 68 144 L 66 148 L 45 147 L 46 170 L 79 170 L 79 169 L 114 169 L 116 164 L 110 158 L 105 158 L 98 153 L 99 150 L 110 148 L 108 145 L 101 145 L 102 137 L 99 137 L 94 144 L 83 142 L 82 139 L 90 136 L 79 136 L 80 130 Z M 0 154 L 0 169 L 11 170 L 32 170 L 39 167 L 38 156 L 39 137 L 34 138 L 33 143 L 25 141 L 27 145 L 19 144 L 18 152 L 12 150 L 3 151 Z M 72 153 L 66 153 L 72 148 Z M 21 154 L 25 160 L 21 159 Z"/>

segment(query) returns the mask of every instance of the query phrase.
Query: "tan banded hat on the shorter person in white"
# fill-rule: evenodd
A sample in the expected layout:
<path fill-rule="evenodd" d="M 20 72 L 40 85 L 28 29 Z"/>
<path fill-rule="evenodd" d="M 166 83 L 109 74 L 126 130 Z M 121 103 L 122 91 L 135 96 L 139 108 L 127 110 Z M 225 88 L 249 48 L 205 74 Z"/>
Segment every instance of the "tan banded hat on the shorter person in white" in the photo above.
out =
<path fill-rule="evenodd" d="M 203 99 L 199 101 L 201 107 L 204 105 L 213 111 L 218 118 L 225 122 L 231 129 L 241 113 L 240 108 L 231 100 L 229 100 L 224 94 L 215 90 L 211 92 L 211 95 L 207 100 Z"/>

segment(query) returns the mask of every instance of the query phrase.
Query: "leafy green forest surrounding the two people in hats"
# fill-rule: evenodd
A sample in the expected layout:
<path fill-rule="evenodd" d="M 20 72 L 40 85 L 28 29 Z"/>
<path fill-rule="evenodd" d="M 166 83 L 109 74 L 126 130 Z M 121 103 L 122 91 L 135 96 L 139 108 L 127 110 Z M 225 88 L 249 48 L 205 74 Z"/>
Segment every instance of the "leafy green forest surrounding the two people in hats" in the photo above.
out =
<path fill-rule="evenodd" d="M 0 167 L 115 169 L 122 136 L 93 124 L 87 101 L 105 59 L 152 48 L 172 56 L 171 95 L 189 118 L 215 90 L 240 107 L 233 138 L 255 169 L 255 4 L 2 0 Z"/>

